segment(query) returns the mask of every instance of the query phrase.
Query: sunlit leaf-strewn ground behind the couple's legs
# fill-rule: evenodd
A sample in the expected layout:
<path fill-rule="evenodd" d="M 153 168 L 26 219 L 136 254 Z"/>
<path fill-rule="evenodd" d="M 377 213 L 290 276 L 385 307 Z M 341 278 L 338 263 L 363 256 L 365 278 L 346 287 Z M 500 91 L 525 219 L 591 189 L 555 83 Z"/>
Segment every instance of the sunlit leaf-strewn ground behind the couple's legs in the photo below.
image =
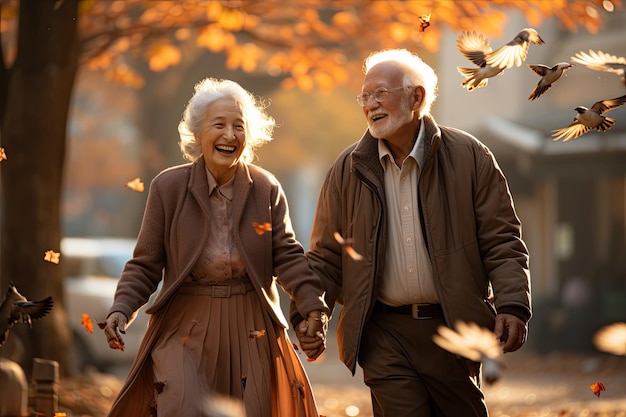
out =
<path fill-rule="evenodd" d="M 371 417 L 369 392 L 334 358 L 306 363 L 319 411 L 327 417 Z M 589 388 L 601 382 L 600 396 Z M 119 376 L 92 373 L 58 387 L 68 417 L 104 417 L 121 388 Z M 626 358 L 603 354 L 512 354 L 502 378 L 485 387 L 491 417 L 626 417 Z"/>

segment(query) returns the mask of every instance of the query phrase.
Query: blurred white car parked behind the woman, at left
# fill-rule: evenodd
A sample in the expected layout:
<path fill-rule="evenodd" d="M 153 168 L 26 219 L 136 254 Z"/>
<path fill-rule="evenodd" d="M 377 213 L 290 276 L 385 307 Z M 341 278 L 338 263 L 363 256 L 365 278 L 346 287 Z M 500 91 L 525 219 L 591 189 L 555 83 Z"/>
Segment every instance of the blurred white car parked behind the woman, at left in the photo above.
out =
<path fill-rule="evenodd" d="M 74 336 L 73 357 L 78 370 L 87 366 L 99 370 L 126 367 L 137 353 L 148 324 L 145 307 L 122 335 L 124 351 L 109 348 L 98 327 L 113 304 L 117 282 L 134 247 L 135 239 L 66 237 L 61 240 L 65 306 Z M 83 326 L 83 314 L 93 321 L 93 333 Z"/>

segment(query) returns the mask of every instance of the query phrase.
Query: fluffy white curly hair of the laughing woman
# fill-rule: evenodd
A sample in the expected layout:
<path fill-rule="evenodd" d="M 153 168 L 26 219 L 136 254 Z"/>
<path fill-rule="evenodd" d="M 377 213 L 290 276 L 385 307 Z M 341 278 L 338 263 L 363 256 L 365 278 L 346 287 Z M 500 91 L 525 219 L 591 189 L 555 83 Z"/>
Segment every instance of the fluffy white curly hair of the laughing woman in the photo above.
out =
<path fill-rule="evenodd" d="M 196 138 L 200 135 L 206 108 L 213 101 L 223 97 L 232 97 L 241 105 L 246 130 L 246 148 L 241 154 L 244 162 L 251 163 L 254 160 L 254 150 L 272 140 L 276 122 L 265 112 L 269 101 L 256 98 L 231 80 L 205 78 L 196 84 L 194 90 L 194 95 L 187 103 L 183 118 L 178 124 L 180 149 L 185 159 L 195 162 L 202 156 L 202 145 Z"/>

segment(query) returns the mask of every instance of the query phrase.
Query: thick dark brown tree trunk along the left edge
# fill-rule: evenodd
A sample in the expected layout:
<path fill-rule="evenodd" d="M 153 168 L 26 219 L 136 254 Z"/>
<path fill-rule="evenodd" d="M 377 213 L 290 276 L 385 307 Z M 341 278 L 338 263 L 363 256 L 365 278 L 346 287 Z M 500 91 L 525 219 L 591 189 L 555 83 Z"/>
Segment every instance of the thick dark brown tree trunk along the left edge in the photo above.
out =
<path fill-rule="evenodd" d="M 78 66 L 78 0 L 20 2 L 18 50 L 8 69 L 1 120 L 2 222 L 0 279 L 31 300 L 54 298 L 52 312 L 11 329 L 2 356 L 12 356 L 30 376 L 34 357 L 59 362 L 67 374 L 71 331 L 63 302 L 60 252 L 63 162 L 72 88 Z M 3 80 L 7 83 L 7 80 Z M 0 90 L 1 91 L 1 90 Z M 4 351 L 7 347 L 12 349 Z"/>

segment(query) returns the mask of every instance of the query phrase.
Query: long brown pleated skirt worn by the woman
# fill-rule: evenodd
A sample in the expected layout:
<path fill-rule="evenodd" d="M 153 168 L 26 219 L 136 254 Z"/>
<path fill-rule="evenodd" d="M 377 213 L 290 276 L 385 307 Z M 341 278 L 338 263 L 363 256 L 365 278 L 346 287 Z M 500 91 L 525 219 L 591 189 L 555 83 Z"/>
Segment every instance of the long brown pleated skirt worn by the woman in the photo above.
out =
<path fill-rule="evenodd" d="M 319 417 L 286 329 L 256 291 L 177 293 L 166 314 L 151 354 L 158 417 L 206 416 L 214 396 L 241 401 L 245 417 Z"/>

